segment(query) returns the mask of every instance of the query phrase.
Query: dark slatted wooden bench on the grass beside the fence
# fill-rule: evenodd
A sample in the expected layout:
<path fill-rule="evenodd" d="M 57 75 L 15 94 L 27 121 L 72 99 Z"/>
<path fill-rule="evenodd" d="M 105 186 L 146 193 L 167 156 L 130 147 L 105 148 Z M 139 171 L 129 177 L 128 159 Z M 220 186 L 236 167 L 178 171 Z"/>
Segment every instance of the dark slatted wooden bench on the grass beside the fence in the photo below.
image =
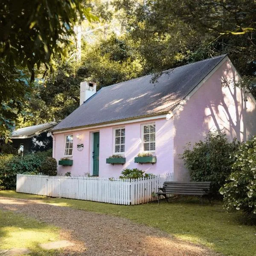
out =
<path fill-rule="evenodd" d="M 203 181 L 203 182 L 176 182 L 176 181 L 165 181 L 163 183 L 162 188 L 158 188 L 158 192 L 156 193 L 158 196 L 158 204 L 160 200 L 160 195 L 163 195 L 167 202 L 167 195 L 198 195 L 202 198 L 203 204 L 203 196 L 210 194 L 210 185 L 211 182 Z M 211 204 L 210 197 L 208 196 L 208 200 Z"/>

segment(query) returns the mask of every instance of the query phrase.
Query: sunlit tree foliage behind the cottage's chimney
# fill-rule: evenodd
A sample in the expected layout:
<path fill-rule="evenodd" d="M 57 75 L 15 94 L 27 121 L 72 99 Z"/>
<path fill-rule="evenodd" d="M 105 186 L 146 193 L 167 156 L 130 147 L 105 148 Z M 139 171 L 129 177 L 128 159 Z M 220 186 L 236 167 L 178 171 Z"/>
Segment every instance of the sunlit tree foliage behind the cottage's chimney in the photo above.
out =
<path fill-rule="evenodd" d="M 79 107 L 81 81 L 95 81 L 99 90 L 143 75 L 137 52 L 125 37 L 112 34 L 95 44 L 83 42 L 81 62 L 69 52 L 66 61 L 55 59 L 55 72 L 34 88 L 26 108 L 31 114 L 20 117 L 18 127 L 64 119 Z"/>

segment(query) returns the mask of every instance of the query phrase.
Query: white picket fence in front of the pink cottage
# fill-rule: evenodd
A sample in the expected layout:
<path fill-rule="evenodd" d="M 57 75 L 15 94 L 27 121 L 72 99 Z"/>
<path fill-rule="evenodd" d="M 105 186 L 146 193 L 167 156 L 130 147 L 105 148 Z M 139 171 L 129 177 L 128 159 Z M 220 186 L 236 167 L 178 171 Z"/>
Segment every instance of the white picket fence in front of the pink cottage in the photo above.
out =
<path fill-rule="evenodd" d="M 167 180 L 172 181 L 173 175 L 140 179 L 109 179 L 18 174 L 16 191 L 50 197 L 134 205 L 157 200 L 154 193 Z"/>

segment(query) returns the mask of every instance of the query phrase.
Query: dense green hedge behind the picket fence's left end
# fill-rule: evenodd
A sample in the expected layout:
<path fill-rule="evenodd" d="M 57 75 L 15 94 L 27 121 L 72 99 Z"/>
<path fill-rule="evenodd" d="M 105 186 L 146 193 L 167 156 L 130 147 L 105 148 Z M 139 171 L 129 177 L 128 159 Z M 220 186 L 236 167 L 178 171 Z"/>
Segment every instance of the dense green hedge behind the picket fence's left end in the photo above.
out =
<path fill-rule="evenodd" d="M 0 189 L 14 189 L 16 185 L 16 175 L 19 173 L 38 174 L 42 170 L 50 167 L 54 171 L 53 162 L 48 160 L 52 151 L 25 154 L 23 156 L 13 154 L 0 154 Z M 47 165 L 47 166 L 44 166 Z"/>

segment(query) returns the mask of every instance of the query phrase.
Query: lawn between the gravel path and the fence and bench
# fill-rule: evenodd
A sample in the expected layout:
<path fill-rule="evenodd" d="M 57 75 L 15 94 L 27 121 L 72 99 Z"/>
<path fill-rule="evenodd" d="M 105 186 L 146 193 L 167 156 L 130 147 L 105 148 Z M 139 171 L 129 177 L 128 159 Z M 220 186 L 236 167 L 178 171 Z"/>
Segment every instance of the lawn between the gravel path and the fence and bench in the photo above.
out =
<path fill-rule="evenodd" d="M 221 202 L 201 207 L 198 198 L 173 199 L 137 206 L 122 206 L 65 198 L 46 198 L 37 195 L 0 191 L 0 196 L 38 199 L 47 204 L 72 207 L 86 211 L 128 218 L 137 223 L 157 227 L 186 241 L 204 244 L 228 256 L 256 256 L 256 227 L 239 222 L 241 213 L 224 212 Z"/>

